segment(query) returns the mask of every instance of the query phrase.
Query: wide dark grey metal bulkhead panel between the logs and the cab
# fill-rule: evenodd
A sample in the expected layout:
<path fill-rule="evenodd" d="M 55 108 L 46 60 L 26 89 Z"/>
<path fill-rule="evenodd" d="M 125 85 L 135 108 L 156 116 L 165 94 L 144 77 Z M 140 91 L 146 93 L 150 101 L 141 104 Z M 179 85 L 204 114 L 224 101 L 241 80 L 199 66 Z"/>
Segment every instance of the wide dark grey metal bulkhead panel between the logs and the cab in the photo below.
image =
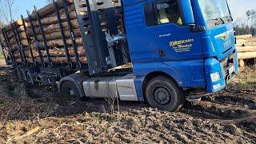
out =
<path fill-rule="evenodd" d="M 90 3 L 88 0 L 74 0 L 74 6 L 77 12 L 78 25 L 82 35 L 88 70 L 90 75 L 101 74 L 104 71 L 102 68 L 106 67 L 106 58 L 102 47 L 96 42 L 98 35 L 94 32 Z"/>

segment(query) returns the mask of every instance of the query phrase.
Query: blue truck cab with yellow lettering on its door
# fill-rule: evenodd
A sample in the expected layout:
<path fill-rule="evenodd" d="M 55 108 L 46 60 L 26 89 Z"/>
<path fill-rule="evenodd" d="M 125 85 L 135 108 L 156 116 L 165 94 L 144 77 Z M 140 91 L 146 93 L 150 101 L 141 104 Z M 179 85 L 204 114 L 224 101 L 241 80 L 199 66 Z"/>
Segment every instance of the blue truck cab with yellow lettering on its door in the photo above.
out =
<path fill-rule="evenodd" d="M 238 74 L 226 0 L 126 0 L 124 17 L 139 98 L 148 77 L 214 93 Z"/>

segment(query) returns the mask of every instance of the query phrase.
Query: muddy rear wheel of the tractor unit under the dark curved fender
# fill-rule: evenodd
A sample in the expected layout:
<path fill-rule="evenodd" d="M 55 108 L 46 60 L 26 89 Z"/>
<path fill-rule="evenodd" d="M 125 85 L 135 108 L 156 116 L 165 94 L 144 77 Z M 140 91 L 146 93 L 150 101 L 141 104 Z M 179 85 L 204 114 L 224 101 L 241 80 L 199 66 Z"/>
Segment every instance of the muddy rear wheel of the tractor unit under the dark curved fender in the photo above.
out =
<path fill-rule="evenodd" d="M 80 97 L 78 88 L 74 85 L 73 82 L 65 81 L 61 85 L 61 93 L 69 96 L 69 97 L 75 97 L 78 98 L 81 101 L 86 101 L 86 97 Z"/>

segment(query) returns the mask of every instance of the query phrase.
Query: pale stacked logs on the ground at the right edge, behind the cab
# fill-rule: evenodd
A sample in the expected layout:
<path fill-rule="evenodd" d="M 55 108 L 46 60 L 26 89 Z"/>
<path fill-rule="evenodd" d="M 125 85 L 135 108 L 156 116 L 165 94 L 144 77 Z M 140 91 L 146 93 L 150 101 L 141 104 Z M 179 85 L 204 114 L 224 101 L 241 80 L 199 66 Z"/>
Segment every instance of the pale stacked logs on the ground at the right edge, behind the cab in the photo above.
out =
<path fill-rule="evenodd" d="M 239 64 L 243 67 L 245 66 L 244 60 L 256 59 L 256 38 L 251 34 L 238 35 L 236 38 Z"/>

